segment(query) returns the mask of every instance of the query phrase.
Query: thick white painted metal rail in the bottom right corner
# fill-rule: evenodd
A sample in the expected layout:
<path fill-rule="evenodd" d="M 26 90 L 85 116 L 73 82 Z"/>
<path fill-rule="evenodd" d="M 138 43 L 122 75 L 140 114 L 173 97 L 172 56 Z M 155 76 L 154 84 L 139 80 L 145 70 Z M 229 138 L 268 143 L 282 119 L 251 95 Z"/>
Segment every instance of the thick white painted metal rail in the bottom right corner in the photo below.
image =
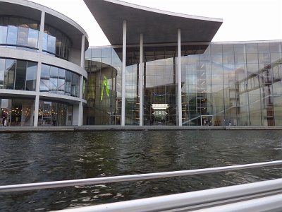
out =
<path fill-rule="evenodd" d="M 74 211 L 282 211 L 282 179 L 63 210 L 63 212 Z"/>

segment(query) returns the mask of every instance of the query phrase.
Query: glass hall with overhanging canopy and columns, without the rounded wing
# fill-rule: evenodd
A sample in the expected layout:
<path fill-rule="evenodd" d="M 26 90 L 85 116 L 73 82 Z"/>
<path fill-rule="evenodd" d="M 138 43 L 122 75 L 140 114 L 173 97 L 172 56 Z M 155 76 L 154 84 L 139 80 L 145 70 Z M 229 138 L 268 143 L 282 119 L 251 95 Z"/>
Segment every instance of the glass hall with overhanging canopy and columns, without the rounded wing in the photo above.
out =
<path fill-rule="evenodd" d="M 281 40 L 211 42 L 220 19 L 85 3 L 112 46 L 86 52 L 83 124 L 282 125 Z"/>

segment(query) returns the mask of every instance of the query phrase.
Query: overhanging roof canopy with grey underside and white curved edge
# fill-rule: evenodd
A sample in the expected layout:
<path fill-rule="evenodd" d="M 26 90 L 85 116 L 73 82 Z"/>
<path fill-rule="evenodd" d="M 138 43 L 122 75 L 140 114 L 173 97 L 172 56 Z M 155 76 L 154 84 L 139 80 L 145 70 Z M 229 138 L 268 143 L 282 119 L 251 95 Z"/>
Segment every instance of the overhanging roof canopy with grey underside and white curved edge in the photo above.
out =
<path fill-rule="evenodd" d="M 137 6 L 117 0 L 84 0 L 111 45 L 123 42 L 123 20 L 127 23 L 127 44 L 175 43 L 178 29 L 181 42 L 211 42 L 222 19 L 189 16 Z"/>

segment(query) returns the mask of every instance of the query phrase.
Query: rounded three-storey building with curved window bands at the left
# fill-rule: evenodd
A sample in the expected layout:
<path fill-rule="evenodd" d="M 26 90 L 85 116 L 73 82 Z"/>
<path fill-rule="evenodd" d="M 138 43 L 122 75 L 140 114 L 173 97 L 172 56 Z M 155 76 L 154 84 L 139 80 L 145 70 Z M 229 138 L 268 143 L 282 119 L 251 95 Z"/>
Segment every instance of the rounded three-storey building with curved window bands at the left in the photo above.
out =
<path fill-rule="evenodd" d="M 8 126 L 82 125 L 87 34 L 30 1 L 0 0 L 0 121 Z"/>

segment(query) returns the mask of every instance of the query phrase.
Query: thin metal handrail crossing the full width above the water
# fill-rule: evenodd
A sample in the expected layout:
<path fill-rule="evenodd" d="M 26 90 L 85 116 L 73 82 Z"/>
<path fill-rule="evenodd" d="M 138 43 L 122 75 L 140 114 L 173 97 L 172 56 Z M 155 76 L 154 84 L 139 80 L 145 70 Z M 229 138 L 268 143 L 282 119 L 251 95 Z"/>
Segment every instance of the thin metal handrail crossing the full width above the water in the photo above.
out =
<path fill-rule="evenodd" d="M 63 180 L 63 181 L 54 181 L 54 182 L 38 182 L 38 183 L 29 183 L 29 184 L 14 184 L 0 186 L 0 194 L 5 192 L 20 192 L 20 191 L 30 191 L 34 189 L 50 189 L 50 188 L 59 188 L 59 187 L 72 187 L 78 185 L 87 185 L 87 184 L 103 184 L 110 182 L 129 182 L 140 179 L 157 179 L 165 177 L 180 177 L 188 175 L 199 175 L 207 174 L 214 172 L 226 172 L 231 170 L 243 170 L 247 168 L 255 167 L 265 167 L 271 165 L 282 165 L 282 160 L 276 160 L 271 162 L 264 163 L 252 163 L 246 165 L 231 165 L 226 167 L 212 167 L 198 170 L 183 170 L 175 172 L 157 172 L 149 173 L 142 175 L 125 175 L 125 176 L 116 176 L 116 177 L 98 177 L 98 178 L 89 178 L 89 179 L 73 179 L 73 180 Z"/>

